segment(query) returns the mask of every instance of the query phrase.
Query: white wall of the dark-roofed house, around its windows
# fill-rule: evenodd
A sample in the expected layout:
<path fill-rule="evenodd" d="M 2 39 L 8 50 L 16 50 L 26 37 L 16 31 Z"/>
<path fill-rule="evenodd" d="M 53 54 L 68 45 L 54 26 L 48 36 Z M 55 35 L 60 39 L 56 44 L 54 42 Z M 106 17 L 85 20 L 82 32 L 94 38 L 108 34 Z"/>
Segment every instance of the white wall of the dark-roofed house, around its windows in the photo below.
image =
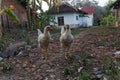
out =
<path fill-rule="evenodd" d="M 86 17 L 79 17 L 78 13 L 62 13 L 62 14 L 55 14 L 51 15 L 54 17 L 55 22 L 58 23 L 58 17 L 64 17 L 64 24 L 69 24 L 72 28 L 83 26 L 83 24 L 87 25 L 87 18 Z M 78 17 L 78 20 L 76 19 Z M 50 25 L 54 25 L 50 23 Z M 56 24 L 58 26 L 58 24 Z M 86 26 L 85 25 L 85 26 Z"/>

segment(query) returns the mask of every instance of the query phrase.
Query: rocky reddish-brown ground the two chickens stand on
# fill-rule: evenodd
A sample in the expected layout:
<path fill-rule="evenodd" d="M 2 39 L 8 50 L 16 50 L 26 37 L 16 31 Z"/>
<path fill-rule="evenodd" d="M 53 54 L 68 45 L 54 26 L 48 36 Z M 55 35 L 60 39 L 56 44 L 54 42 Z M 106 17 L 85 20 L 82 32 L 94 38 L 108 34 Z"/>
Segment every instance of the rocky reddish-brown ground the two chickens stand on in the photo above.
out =
<path fill-rule="evenodd" d="M 104 75 L 101 67 L 106 68 L 106 63 L 116 58 L 114 53 L 120 50 L 120 28 L 90 28 L 78 33 L 74 35 L 69 60 L 65 60 L 64 53 L 60 52 L 59 34 L 52 34 L 54 40 L 49 45 L 47 60 L 38 53 L 37 33 L 32 34 L 32 44 L 25 46 L 21 54 L 1 61 L 0 80 L 77 80 L 73 78 L 82 75 L 81 69 L 89 70 L 91 80 L 100 80 L 99 77 Z M 107 59 L 110 60 L 106 62 Z M 97 73 L 94 75 L 95 70 L 99 76 Z"/>

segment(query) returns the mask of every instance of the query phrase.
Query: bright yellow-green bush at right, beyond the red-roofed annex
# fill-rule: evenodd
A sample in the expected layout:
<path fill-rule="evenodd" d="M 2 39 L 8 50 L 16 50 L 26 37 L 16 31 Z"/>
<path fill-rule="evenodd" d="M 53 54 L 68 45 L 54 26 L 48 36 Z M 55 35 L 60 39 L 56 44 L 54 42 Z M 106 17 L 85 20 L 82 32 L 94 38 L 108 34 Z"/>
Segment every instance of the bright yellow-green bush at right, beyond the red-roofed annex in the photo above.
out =
<path fill-rule="evenodd" d="M 101 19 L 101 25 L 113 26 L 116 21 L 117 21 L 117 19 L 111 13 L 107 17 L 104 17 L 104 18 Z"/>

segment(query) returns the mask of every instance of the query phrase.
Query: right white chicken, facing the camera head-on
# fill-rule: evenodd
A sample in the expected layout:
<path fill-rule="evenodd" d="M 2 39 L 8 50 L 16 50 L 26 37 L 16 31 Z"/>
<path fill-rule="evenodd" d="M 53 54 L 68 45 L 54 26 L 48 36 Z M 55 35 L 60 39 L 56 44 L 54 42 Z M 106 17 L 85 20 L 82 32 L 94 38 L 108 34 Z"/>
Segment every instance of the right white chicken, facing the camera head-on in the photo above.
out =
<path fill-rule="evenodd" d="M 70 57 L 70 53 L 69 53 L 69 49 L 71 47 L 71 44 L 73 43 L 73 35 L 71 34 L 71 29 L 69 25 L 66 25 L 64 27 L 61 28 L 61 36 L 60 36 L 60 44 L 62 47 L 62 51 L 65 50 L 65 59 L 68 59 L 68 57 Z"/>

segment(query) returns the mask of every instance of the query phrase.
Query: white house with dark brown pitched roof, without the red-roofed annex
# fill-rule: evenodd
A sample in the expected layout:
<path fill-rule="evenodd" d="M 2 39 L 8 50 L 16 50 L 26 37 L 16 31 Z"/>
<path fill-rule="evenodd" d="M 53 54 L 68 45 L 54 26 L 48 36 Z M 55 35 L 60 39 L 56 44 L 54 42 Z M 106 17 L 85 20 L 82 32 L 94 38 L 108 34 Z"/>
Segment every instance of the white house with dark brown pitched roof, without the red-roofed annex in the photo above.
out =
<path fill-rule="evenodd" d="M 79 26 L 88 26 L 88 18 L 86 12 L 74 8 L 68 3 L 64 3 L 59 6 L 59 10 L 54 8 L 51 11 L 51 16 L 54 18 L 54 21 L 57 24 L 50 23 L 50 25 L 63 26 L 65 24 L 69 24 L 71 27 L 79 27 Z"/>

